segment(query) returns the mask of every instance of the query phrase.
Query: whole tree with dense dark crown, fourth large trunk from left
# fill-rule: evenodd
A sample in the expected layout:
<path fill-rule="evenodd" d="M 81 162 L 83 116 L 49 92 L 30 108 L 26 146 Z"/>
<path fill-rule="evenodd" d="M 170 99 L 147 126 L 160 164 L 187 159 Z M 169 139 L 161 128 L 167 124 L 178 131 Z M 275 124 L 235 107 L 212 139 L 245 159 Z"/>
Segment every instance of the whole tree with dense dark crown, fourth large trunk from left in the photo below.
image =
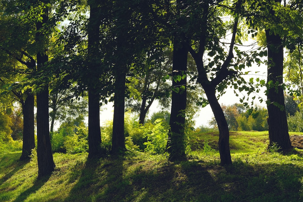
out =
<path fill-rule="evenodd" d="M 132 67 L 138 65 L 154 44 L 161 32 L 155 20 L 155 7 L 152 3 L 136 1 L 115 1 L 108 3 L 109 15 L 104 27 L 107 54 L 105 61 L 112 67 L 114 75 L 114 118 L 112 154 L 125 151 L 124 110 L 126 96 L 126 77 Z M 157 10 L 157 9 L 156 9 Z M 150 46 L 151 45 L 151 46 Z"/>

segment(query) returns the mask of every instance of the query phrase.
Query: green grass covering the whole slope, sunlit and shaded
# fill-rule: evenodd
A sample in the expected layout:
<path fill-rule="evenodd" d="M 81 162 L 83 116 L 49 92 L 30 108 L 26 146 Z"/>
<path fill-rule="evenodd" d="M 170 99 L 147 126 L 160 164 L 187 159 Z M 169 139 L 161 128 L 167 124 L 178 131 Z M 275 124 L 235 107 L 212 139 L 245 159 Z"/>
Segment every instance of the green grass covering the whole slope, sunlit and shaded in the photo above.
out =
<path fill-rule="evenodd" d="M 194 134 L 188 161 L 178 163 L 55 153 L 55 171 L 42 180 L 35 162 L 18 161 L 21 152 L 0 154 L 0 201 L 303 201 L 303 150 L 268 153 L 267 132 L 231 132 L 233 165 L 221 167 L 217 141 L 216 132 Z"/>

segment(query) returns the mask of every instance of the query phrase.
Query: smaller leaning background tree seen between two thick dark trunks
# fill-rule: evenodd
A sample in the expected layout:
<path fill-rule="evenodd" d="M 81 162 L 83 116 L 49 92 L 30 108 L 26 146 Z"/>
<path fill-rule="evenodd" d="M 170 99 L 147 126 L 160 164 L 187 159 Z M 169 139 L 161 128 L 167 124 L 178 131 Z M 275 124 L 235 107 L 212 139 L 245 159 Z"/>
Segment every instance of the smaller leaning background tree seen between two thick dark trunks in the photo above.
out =
<path fill-rule="evenodd" d="M 130 99 L 127 100 L 126 107 L 139 112 L 139 123 L 142 125 L 145 123 L 149 108 L 156 99 L 160 101 L 160 104 L 163 104 L 162 100 L 165 100 L 165 106 L 168 104 L 169 84 L 163 78 L 169 71 L 171 51 L 163 50 L 162 47 L 158 49 L 157 51 L 150 50 L 150 53 L 144 55 L 142 68 L 138 72 L 136 68 L 133 68 L 133 75 L 127 78 L 126 85 L 130 92 Z"/>

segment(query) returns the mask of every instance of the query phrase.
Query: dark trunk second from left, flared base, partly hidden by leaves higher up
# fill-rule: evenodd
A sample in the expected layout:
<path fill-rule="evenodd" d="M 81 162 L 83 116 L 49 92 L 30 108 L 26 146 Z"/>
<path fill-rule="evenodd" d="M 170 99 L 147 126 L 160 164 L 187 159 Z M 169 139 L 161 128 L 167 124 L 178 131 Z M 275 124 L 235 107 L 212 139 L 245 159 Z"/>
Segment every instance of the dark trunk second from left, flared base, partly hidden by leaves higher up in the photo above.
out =
<path fill-rule="evenodd" d="M 42 22 L 37 22 L 36 41 L 39 42 L 45 37 L 39 30 L 48 21 L 48 8 L 44 10 Z M 44 64 L 48 61 L 45 51 L 37 53 L 37 70 L 43 70 Z M 37 93 L 37 159 L 38 178 L 50 175 L 54 171 L 55 163 L 52 154 L 52 145 L 49 135 L 49 114 L 48 114 L 48 83 L 43 85 L 43 89 Z"/>

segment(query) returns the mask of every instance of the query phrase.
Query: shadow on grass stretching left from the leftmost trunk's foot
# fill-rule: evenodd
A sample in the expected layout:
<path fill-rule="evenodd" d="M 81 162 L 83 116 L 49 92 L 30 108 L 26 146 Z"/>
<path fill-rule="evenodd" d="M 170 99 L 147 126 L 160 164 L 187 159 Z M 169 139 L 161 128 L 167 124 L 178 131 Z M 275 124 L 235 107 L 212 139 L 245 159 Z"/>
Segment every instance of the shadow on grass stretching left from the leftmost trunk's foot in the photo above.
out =
<path fill-rule="evenodd" d="M 20 154 L 18 154 L 18 153 L 11 153 L 11 154 L 7 154 L 7 155 L 9 155 L 9 158 L 12 160 L 12 163 L 7 165 L 7 167 L 5 167 L 4 169 L 11 170 L 11 171 L 7 172 L 0 179 L 0 185 L 3 184 L 6 180 L 8 180 L 10 177 L 12 177 L 16 172 L 21 170 L 25 166 L 25 164 L 28 163 L 28 161 L 19 161 L 18 157 L 20 157 Z M 1 161 L 5 161 L 6 158 L 8 158 L 8 157 L 7 156 L 2 157 Z"/>

